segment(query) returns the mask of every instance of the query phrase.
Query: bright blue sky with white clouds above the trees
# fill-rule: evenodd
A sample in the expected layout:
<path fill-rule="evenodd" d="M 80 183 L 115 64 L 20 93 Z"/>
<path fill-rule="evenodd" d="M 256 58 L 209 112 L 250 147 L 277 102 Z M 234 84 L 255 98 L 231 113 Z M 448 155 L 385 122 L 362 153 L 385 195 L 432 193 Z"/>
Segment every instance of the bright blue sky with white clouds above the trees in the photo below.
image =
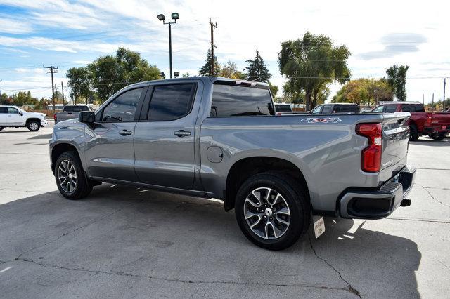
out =
<path fill-rule="evenodd" d="M 60 90 L 67 69 L 114 55 L 119 46 L 139 51 L 169 74 L 168 28 L 156 16 L 164 13 L 168 20 L 176 12 L 174 71 L 198 74 L 212 18 L 219 62 L 231 60 L 242 70 L 258 49 L 280 90 L 281 42 L 309 31 L 349 48 L 352 79 L 378 79 L 387 67 L 409 65 L 407 99 L 431 102 L 432 93 L 435 101 L 442 99 L 444 77 L 450 77 L 449 11 L 450 1 L 0 0 L 0 91 L 50 97 L 43 65 L 58 67 Z M 331 87 L 329 100 L 340 87 Z"/>

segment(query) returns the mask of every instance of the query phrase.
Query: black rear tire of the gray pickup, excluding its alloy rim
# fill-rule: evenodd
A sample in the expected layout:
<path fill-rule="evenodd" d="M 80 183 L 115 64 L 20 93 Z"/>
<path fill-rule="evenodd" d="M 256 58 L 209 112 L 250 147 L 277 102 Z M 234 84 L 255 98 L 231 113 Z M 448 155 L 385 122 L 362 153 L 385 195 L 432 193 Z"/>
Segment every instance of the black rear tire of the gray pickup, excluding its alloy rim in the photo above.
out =
<path fill-rule="evenodd" d="M 283 227 L 285 230 L 280 237 L 276 237 L 274 226 L 271 225 L 271 235 L 267 233 L 267 229 L 265 232 L 262 232 L 264 236 L 257 234 L 252 228 L 250 228 L 250 224 L 248 219 L 245 219 L 245 213 L 248 213 L 245 208 L 247 205 L 250 208 L 254 208 L 254 206 L 249 206 L 245 204 L 246 199 L 250 196 L 250 192 L 257 190 L 258 188 L 270 188 L 271 190 L 275 190 L 274 192 L 280 194 L 284 201 L 282 202 L 282 206 L 287 204 L 290 215 L 289 219 L 285 219 L 289 222 L 287 228 Z M 272 191 L 271 191 L 272 192 Z M 259 192 L 260 199 L 262 199 L 261 211 L 264 209 L 264 196 L 261 192 Z M 274 195 L 270 195 L 273 197 Z M 255 197 L 257 199 L 257 197 Z M 276 202 L 276 201 L 273 201 Z M 257 227 L 264 226 L 266 227 L 267 222 L 272 222 L 274 224 L 278 223 L 278 215 L 276 213 L 276 204 L 274 206 L 274 214 L 272 215 L 272 211 L 270 208 L 266 208 L 266 210 L 270 210 L 270 214 L 272 215 L 272 220 L 269 221 L 269 216 L 264 211 L 264 213 L 260 213 L 261 217 L 257 217 L 257 221 L 259 224 Z M 258 209 L 258 208 L 257 208 Z M 248 178 L 243 185 L 240 186 L 238 190 L 238 194 L 236 194 L 236 203 L 235 203 L 235 215 L 236 220 L 238 221 L 238 225 L 240 230 L 242 230 L 245 237 L 247 237 L 252 243 L 256 244 L 259 247 L 270 249 L 270 250 L 282 250 L 288 248 L 295 244 L 295 242 L 307 232 L 309 225 L 311 224 L 311 205 L 309 204 L 309 197 L 307 193 L 307 187 L 302 186 L 300 183 L 296 182 L 290 176 L 285 175 L 283 173 L 261 173 L 257 175 L 253 175 Z M 280 212 L 279 210 L 278 212 Z M 263 215 L 264 214 L 264 215 Z M 265 217 L 265 219 L 264 219 Z M 252 218 L 254 219 L 254 218 Z M 249 220 L 250 221 L 250 220 Z M 255 224 L 252 223 L 252 225 Z M 257 228 L 258 230 L 258 228 Z M 269 239 L 271 238 L 271 239 Z"/>

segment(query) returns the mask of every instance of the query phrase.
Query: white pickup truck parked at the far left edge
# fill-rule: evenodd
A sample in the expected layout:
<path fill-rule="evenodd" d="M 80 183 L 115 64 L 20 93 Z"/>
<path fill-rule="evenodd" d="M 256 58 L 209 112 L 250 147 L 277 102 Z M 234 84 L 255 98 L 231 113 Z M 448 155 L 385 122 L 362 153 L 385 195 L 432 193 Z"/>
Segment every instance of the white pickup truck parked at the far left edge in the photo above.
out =
<path fill-rule="evenodd" d="M 0 131 L 5 127 L 27 127 L 30 131 L 39 131 L 41 126 L 46 126 L 47 120 L 44 113 L 26 112 L 16 106 L 0 106 Z"/>

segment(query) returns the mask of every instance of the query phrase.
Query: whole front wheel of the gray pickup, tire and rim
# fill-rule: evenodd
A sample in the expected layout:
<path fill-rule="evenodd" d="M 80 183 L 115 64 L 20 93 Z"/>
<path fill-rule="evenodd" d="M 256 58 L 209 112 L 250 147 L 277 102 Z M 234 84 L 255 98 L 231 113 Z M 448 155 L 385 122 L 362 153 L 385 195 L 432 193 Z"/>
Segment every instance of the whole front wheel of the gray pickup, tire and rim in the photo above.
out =
<path fill-rule="evenodd" d="M 59 192 L 67 199 L 82 199 L 92 191 L 75 152 L 64 152 L 56 160 L 55 179 Z"/>

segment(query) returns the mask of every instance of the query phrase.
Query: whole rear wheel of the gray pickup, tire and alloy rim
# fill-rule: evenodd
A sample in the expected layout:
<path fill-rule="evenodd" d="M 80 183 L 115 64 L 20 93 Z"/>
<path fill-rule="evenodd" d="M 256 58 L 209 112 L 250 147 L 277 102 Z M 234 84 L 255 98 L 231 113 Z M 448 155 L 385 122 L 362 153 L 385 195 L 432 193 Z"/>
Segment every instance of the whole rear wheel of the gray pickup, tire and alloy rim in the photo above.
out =
<path fill-rule="evenodd" d="M 306 188 L 280 173 L 246 180 L 236 195 L 235 214 L 245 237 L 271 250 L 292 246 L 311 223 Z"/>

